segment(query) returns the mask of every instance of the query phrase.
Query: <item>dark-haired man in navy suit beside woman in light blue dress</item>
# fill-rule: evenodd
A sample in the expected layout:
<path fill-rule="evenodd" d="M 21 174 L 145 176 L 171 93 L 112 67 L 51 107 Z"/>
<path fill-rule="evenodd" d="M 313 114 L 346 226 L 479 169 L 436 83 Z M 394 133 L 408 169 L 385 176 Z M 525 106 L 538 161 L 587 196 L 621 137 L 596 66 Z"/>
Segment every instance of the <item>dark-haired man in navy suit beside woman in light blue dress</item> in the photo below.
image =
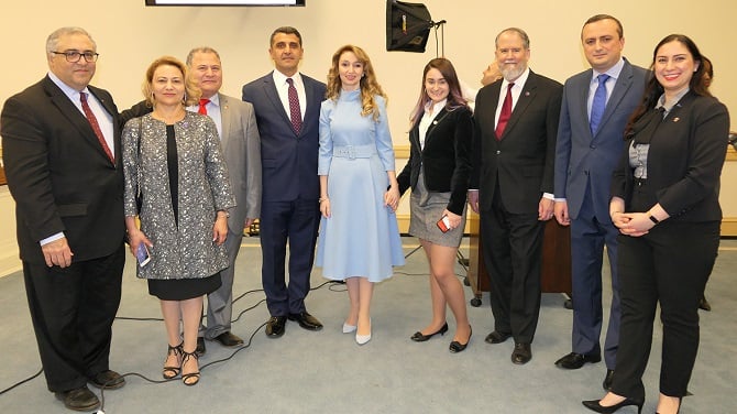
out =
<path fill-rule="evenodd" d="M 268 50 L 276 70 L 243 86 L 243 100 L 253 105 L 261 134 L 261 276 L 271 314 L 266 324 L 270 338 L 284 335 L 287 319 L 305 329 L 322 328 L 307 312 L 305 297 L 320 224 L 317 155 L 326 86 L 299 73 L 302 52 L 301 35 L 295 28 L 276 29 Z"/>

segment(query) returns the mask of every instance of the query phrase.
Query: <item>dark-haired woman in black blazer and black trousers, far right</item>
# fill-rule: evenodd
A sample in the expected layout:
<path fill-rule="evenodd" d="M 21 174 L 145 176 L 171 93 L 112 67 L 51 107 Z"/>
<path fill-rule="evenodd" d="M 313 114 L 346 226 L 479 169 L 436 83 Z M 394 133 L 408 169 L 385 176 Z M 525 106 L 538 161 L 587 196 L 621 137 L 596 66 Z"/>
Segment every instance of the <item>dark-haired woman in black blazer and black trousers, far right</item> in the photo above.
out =
<path fill-rule="evenodd" d="M 719 175 L 729 115 L 708 92 L 703 57 L 671 34 L 654 50 L 654 74 L 625 130 L 612 181 L 618 237 L 622 325 L 610 392 L 583 404 L 614 413 L 645 403 L 642 373 L 660 304 L 662 362 L 658 413 L 676 413 L 698 349 L 698 301 L 719 246 Z"/>

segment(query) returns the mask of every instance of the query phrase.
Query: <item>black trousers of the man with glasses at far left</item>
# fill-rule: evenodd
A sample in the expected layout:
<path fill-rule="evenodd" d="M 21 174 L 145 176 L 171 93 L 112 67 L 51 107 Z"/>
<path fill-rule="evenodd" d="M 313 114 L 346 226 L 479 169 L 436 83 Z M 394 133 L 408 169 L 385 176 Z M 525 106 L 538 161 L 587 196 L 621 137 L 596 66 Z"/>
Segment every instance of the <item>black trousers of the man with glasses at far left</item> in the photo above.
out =
<path fill-rule="evenodd" d="M 63 392 L 109 369 L 125 250 L 65 269 L 23 262 L 25 293 L 46 384 Z"/>

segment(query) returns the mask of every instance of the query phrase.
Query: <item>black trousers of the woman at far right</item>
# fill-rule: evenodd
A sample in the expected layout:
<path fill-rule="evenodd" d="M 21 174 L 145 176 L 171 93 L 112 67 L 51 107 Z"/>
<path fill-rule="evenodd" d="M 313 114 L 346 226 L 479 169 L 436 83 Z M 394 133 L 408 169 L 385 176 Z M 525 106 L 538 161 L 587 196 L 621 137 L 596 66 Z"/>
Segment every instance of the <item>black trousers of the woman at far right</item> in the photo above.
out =
<path fill-rule="evenodd" d="M 698 350 L 698 301 L 719 247 L 719 222 L 666 220 L 642 237 L 618 237 L 622 325 L 612 391 L 645 397 L 642 373 L 650 357 L 660 303 L 660 392 L 684 396 Z"/>

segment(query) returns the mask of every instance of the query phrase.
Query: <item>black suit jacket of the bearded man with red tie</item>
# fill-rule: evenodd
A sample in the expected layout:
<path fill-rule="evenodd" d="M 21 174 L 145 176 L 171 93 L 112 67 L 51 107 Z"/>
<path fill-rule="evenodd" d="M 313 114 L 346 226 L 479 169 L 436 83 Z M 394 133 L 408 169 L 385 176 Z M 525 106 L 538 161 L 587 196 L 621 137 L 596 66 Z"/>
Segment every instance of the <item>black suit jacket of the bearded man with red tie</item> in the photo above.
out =
<path fill-rule="evenodd" d="M 553 193 L 556 137 L 563 86 L 530 70 L 504 134 L 497 140 L 495 113 L 502 80 L 476 96 L 470 188 L 479 189 L 480 209 L 490 210 L 498 179 L 505 208 L 538 210 L 542 193 Z"/>

